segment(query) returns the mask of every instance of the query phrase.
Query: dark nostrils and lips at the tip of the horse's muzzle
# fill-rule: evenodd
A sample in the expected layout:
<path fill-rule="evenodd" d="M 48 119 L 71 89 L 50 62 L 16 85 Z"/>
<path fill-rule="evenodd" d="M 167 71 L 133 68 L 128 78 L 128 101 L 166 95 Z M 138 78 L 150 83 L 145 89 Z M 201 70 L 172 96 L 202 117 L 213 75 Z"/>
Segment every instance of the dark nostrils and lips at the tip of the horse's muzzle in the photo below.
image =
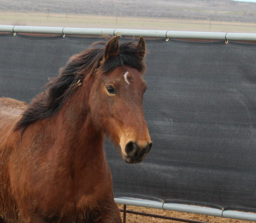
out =
<path fill-rule="evenodd" d="M 151 141 L 146 146 L 139 146 L 136 142 L 130 141 L 125 146 L 125 153 L 127 155 L 123 155 L 123 159 L 126 163 L 140 163 L 151 148 Z"/>

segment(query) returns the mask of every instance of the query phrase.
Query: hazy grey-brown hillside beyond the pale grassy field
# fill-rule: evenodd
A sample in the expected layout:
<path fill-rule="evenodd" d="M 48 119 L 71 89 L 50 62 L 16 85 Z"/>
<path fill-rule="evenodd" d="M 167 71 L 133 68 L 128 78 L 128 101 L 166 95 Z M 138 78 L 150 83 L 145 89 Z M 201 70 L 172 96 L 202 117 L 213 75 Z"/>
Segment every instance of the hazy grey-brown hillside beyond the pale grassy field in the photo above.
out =
<path fill-rule="evenodd" d="M 1 0 L 0 11 L 256 22 L 255 3 L 230 0 Z"/>

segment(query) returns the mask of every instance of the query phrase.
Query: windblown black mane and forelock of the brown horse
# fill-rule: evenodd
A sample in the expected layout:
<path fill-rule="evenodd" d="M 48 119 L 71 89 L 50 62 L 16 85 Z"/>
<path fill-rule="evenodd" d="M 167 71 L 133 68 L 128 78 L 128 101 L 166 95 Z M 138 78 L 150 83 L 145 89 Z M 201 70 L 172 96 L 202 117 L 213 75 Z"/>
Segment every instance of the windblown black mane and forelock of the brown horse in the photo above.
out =
<path fill-rule="evenodd" d="M 70 57 L 66 66 L 60 68 L 59 76 L 50 80 L 45 85 L 46 90 L 32 99 L 21 119 L 15 124 L 14 130 L 20 129 L 22 132 L 33 122 L 52 117 L 76 91 L 79 82 L 87 75 L 94 75 L 99 68 L 102 72 L 109 73 L 125 64 L 144 72 L 146 66 L 141 57 L 144 51 L 136 48 L 133 41 L 120 43 L 119 54 L 101 64 L 106 45 L 105 42 L 97 42 L 80 54 Z"/>

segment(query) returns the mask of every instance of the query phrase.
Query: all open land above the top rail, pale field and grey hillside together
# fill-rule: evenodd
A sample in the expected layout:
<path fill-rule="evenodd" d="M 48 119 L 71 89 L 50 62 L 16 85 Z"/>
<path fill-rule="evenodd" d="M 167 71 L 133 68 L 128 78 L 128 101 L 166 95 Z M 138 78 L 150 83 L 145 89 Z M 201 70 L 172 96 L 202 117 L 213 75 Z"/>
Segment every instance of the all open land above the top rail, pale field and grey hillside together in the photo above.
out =
<path fill-rule="evenodd" d="M 0 1 L 1 25 L 255 33 L 256 3 L 231 0 Z"/>

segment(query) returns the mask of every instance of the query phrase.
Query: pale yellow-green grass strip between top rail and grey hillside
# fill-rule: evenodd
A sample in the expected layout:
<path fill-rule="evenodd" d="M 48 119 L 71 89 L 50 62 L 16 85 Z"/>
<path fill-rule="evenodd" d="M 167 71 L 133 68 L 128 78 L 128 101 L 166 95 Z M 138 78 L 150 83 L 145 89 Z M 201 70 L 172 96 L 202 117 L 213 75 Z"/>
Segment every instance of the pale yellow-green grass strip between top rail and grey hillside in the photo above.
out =
<path fill-rule="evenodd" d="M 1 25 L 256 33 L 256 23 L 101 15 L 0 12 Z"/>

